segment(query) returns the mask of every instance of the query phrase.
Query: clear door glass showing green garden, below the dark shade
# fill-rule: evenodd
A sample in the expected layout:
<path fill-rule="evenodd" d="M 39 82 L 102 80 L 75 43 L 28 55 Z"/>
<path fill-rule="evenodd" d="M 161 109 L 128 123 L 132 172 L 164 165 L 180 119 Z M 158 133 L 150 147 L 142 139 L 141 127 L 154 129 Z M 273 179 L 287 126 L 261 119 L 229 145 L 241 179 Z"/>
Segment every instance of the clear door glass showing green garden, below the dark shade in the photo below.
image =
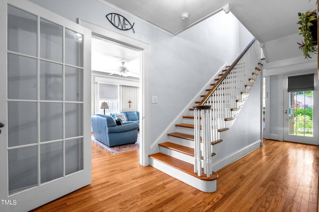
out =
<path fill-rule="evenodd" d="M 289 135 L 313 137 L 313 91 L 289 94 Z"/>

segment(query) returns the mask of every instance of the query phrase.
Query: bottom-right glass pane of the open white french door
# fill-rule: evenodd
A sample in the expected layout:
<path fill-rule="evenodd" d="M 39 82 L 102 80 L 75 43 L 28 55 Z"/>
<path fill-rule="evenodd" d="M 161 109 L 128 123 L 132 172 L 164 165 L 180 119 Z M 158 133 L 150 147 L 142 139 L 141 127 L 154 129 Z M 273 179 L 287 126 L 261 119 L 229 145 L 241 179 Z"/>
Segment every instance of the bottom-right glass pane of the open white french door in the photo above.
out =
<path fill-rule="evenodd" d="M 65 174 L 83 169 L 83 138 L 65 141 Z"/>

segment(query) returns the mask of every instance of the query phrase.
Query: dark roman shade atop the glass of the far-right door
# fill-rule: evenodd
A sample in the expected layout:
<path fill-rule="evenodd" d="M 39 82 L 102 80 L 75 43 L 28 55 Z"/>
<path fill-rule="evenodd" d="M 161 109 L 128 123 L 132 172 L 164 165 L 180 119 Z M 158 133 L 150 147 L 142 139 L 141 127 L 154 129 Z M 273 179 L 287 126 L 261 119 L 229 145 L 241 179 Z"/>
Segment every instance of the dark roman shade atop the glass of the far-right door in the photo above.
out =
<path fill-rule="evenodd" d="M 288 92 L 315 90 L 315 74 L 288 77 Z"/>

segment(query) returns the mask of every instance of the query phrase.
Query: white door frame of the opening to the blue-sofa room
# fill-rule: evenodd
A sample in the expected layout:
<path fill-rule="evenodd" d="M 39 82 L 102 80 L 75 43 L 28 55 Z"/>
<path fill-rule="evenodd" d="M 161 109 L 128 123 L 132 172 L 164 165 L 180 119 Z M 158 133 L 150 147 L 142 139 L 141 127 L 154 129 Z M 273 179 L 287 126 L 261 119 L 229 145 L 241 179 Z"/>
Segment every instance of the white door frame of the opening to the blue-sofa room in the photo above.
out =
<path fill-rule="evenodd" d="M 150 164 L 149 154 L 151 148 L 151 93 L 150 93 L 150 59 L 151 47 L 149 44 L 130 38 L 100 25 L 78 18 L 78 23 L 92 31 L 92 34 L 104 39 L 141 50 L 140 72 L 140 164 Z"/>

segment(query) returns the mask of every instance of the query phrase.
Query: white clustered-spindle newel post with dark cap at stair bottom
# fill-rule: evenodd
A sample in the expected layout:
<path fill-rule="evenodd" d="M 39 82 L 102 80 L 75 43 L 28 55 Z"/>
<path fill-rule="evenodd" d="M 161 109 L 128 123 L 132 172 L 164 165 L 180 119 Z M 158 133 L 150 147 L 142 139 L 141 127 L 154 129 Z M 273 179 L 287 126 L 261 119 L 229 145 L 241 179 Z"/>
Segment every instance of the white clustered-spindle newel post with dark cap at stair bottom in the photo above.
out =
<path fill-rule="evenodd" d="M 203 166 L 204 174 L 210 177 L 212 174 L 211 168 L 211 129 L 212 116 L 210 105 L 195 105 L 194 109 L 194 173 L 201 176 L 201 149 L 200 141 L 203 143 Z M 201 123 L 201 125 L 200 125 Z"/>

